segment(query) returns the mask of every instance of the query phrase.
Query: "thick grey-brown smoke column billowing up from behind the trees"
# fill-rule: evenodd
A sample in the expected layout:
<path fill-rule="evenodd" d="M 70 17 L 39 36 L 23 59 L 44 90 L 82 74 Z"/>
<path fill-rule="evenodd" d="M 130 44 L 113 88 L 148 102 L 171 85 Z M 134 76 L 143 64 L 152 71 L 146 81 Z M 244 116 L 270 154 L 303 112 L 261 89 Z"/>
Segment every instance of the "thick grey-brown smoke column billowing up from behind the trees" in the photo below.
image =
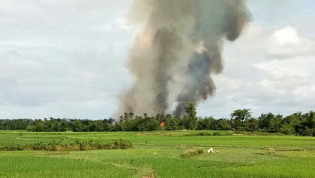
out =
<path fill-rule="evenodd" d="M 135 0 L 131 21 L 142 31 L 130 50 L 134 81 L 119 96 L 119 112 L 172 112 L 175 102 L 173 113 L 181 116 L 188 101 L 212 96 L 223 40 L 236 40 L 249 14 L 244 0 Z"/>

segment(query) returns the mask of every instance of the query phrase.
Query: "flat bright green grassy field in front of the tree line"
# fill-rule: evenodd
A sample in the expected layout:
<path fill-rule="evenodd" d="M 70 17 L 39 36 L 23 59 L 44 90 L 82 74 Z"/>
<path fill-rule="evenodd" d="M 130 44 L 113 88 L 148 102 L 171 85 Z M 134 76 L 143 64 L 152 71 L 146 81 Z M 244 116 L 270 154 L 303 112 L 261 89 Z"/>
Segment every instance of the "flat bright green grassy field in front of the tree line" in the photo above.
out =
<path fill-rule="evenodd" d="M 196 132 L 196 131 L 195 131 Z M 0 178 L 314 178 L 315 137 L 186 136 L 193 133 L 0 132 L 0 144 L 64 138 L 128 139 L 131 149 L 0 151 Z M 222 135 L 226 132 L 222 132 Z M 219 153 L 206 153 L 214 148 Z M 203 149 L 188 158 L 180 154 Z"/>

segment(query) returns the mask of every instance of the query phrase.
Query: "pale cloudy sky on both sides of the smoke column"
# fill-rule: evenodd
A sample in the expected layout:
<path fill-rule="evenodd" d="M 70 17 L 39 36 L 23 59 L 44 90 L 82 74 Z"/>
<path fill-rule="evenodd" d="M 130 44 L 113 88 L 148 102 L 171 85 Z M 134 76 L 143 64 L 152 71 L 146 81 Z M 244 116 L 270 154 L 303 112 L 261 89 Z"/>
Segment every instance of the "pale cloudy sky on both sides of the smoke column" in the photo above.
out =
<path fill-rule="evenodd" d="M 104 119 L 131 85 L 132 0 L 0 0 L 0 119 Z M 251 23 L 223 45 L 217 92 L 198 116 L 315 109 L 315 1 L 247 0 Z"/>

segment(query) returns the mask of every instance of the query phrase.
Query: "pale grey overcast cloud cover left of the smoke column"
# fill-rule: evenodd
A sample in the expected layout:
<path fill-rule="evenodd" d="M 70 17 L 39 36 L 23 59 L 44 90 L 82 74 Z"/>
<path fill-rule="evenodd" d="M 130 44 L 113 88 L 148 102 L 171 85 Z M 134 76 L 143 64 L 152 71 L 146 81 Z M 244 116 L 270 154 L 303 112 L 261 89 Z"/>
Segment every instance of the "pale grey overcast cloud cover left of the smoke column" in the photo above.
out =
<path fill-rule="evenodd" d="M 112 116 L 128 85 L 131 37 L 116 23 L 128 4 L 1 2 L 0 118 Z"/>

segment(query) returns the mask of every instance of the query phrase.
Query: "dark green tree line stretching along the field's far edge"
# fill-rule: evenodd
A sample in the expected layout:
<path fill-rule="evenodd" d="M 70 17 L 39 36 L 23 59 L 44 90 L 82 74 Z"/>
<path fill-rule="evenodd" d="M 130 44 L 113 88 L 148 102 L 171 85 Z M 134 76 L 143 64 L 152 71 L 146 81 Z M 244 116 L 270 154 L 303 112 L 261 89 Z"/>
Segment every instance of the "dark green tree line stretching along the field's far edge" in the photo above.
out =
<path fill-rule="evenodd" d="M 315 136 L 315 112 L 296 112 L 289 116 L 261 114 L 252 117 L 251 109 L 238 109 L 229 118 L 197 117 L 195 105 L 188 102 L 183 117 L 171 114 L 147 113 L 137 116 L 133 112 L 124 113 L 119 119 L 0 119 L 0 130 L 27 130 L 30 132 L 145 132 L 176 130 L 249 131 L 282 133 L 300 136 Z"/>

